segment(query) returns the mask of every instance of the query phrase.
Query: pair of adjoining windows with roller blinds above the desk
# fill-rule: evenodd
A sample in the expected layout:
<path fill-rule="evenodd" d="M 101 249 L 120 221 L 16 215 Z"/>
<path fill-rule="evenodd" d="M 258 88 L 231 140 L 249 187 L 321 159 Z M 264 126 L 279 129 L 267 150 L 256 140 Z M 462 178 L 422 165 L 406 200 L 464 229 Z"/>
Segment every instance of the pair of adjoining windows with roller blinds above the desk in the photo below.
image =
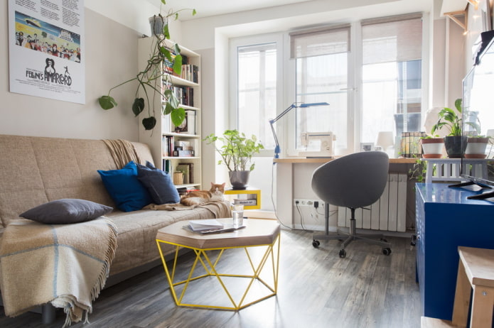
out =
<path fill-rule="evenodd" d="M 296 102 L 330 104 L 297 109 L 296 149 L 303 131 L 333 132 L 337 154 L 359 151 L 379 131 L 420 131 L 421 14 L 294 32 L 290 43 Z"/>

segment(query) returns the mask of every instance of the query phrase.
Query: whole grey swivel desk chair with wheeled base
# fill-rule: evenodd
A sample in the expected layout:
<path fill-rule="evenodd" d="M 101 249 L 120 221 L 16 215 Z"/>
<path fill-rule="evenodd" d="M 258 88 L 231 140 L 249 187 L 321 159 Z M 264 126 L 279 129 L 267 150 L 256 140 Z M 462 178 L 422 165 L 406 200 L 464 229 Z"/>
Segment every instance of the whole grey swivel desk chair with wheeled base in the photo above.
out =
<path fill-rule="evenodd" d="M 338 239 L 343 241 L 340 258 L 344 258 L 345 247 L 359 239 L 382 246 L 382 253 L 390 255 L 391 244 L 382 234 L 356 234 L 355 231 L 355 209 L 369 206 L 381 197 L 386 186 L 389 165 L 385 152 L 365 151 L 345 155 L 316 168 L 312 175 L 312 189 L 325 202 L 326 234 L 313 235 L 314 247 L 321 244 L 319 239 Z M 350 209 L 348 234 L 329 234 L 329 204 Z"/>

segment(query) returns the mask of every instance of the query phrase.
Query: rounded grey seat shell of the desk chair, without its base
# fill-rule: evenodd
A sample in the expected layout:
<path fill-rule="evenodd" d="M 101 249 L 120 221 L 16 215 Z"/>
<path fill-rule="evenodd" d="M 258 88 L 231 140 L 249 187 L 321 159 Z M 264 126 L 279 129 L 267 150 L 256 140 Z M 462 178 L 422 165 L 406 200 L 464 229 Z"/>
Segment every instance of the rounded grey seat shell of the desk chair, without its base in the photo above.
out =
<path fill-rule="evenodd" d="M 328 204 L 365 207 L 381 197 L 389 166 L 389 158 L 382 151 L 345 155 L 316 168 L 312 189 Z"/>

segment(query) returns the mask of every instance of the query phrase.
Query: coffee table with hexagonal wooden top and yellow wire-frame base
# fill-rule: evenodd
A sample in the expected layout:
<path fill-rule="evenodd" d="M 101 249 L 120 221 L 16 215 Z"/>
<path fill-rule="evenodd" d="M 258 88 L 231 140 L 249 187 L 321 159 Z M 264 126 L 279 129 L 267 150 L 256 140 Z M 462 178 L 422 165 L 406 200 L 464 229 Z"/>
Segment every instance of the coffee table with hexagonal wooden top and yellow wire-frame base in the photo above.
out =
<path fill-rule="evenodd" d="M 229 224 L 232 219 L 218 221 Z M 176 305 L 237 311 L 276 295 L 280 225 L 259 219 L 244 222 L 245 228 L 221 234 L 198 234 L 184 229 L 183 226 L 188 222 L 176 222 L 158 230 L 156 244 Z M 166 245 L 175 247 L 175 258 L 168 263 L 162 248 Z M 180 270 L 184 269 L 178 263 L 180 248 L 189 248 L 195 253 L 195 261 L 188 268 L 189 273 Z M 236 256 L 235 259 L 241 261 L 243 258 L 246 265 L 238 263 L 235 267 L 241 270 L 247 268 L 246 273 L 224 271 L 225 266 L 220 260 L 223 253 L 232 248 L 244 248 L 245 256 Z M 195 280 L 198 283 L 194 283 Z M 204 283 L 199 284 L 200 280 Z M 213 290 L 215 296 L 208 297 Z"/>

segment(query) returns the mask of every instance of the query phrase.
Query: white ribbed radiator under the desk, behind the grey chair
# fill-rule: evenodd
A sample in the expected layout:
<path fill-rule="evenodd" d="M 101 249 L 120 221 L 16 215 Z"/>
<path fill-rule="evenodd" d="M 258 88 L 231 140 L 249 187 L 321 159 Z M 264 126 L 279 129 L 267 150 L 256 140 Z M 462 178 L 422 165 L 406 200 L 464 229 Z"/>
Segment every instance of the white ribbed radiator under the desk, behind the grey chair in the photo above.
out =
<path fill-rule="evenodd" d="M 390 173 L 382 196 L 367 209 L 355 209 L 358 229 L 407 230 L 407 174 Z M 350 227 L 350 209 L 338 207 L 338 226 Z"/>

